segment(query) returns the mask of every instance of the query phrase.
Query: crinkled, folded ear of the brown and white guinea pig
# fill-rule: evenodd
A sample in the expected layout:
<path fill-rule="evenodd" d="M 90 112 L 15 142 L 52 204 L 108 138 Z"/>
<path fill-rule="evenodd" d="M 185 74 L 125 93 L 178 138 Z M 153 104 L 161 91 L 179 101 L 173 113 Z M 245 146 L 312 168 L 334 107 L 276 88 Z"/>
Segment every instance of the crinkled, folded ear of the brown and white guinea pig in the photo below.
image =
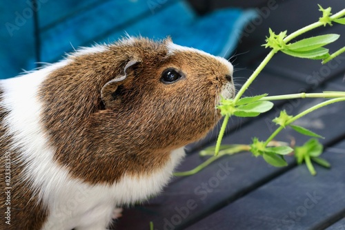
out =
<path fill-rule="evenodd" d="M 137 65 L 137 63 L 139 62 L 140 61 L 138 60 L 128 61 L 128 63 L 124 67 L 124 75 L 118 76 L 117 78 L 108 81 L 106 85 L 103 85 L 101 90 L 101 99 L 106 108 L 114 107 L 119 103 L 120 98 L 118 97 L 118 95 L 121 94 L 121 86 L 124 83 L 124 80 L 127 78 L 128 70 L 131 67 Z"/>

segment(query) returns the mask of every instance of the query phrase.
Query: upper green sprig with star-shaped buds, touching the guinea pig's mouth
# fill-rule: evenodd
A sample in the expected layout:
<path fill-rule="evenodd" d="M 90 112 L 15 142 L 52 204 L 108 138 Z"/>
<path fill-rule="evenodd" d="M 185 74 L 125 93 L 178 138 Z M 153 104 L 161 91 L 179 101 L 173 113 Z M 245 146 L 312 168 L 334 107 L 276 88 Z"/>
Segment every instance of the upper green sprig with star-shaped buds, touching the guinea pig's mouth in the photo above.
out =
<path fill-rule="evenodd" d="M 269 30 L 270 36 L 266 37 L 266 44 L 264 44 L 265 48 L 272 48 L 272 50 L 268 53 L 264 61 L 257 67 L 257 69 L 253 72 L 253 74 L 249 77 L 249 79 L 244 83 L 243 87 L 239 90 L 237 95 L 234 99 L 229 100 L 222 100 L 221 105 L 219 105 L 219 109 L 221 110 L 221 113 L 226 116 L 226 119 L 224 120 L 224 123 L 228 122 L 228 117 L 230 116 L 258 116 L 262 112 L 267 112 L 270 110 L 270 106 L 273 106 L 273 104 L 268 104 L 268 99 L 273 98 L 265 98 L 265 100 L 260 100 L 264 98 L 266 95 L 259 95 L 250 97 L 248 99 L 241 98 L 248 86 L 253 83 L 259 72 L 262 71 L 264 66 L 267 65 L 268 61 L 273 57 L 275 53 L 278 51 L 282 51 L 285 54 L 288 54 L 290 56 L 295 56 L 299 58 L 306 58 L 306 59 L 327 59 L 327 61 L 330 61 L 331 55 L 328 53 L 328 49 L 324 48 L 324 45 L 328 45 L 329 43 L 332 43 L 339 39 L 338 34 L 325 34 L 321 36 L 314 36 L 308 39 L 302 39 L 300 41 L 296 41 L 295 43 L 288 43 L 288 41 L 294 39 L 295 37 L 304 34 L 305 32 L 308 32 L 309 30 L 313 30 L 319 26 L 322 25 L 332 25 L 332 22 L 335 21 L 338 23 L 343 23 L 342 17 L 345 15 L 345 9 L 341 10 L 337 14 L 334 14 L 333 16 L 331 13 L 331 8 L 322 8 L 322 6 L 319 6 L 319 10 L 322 11 L 322 17 L 319 18 L 319 21 L 316 23 L 313 23 L 311 25 L 307 25 L 306 27 L 297 30 L 296 32 L 293 32 L 292 34 L 286 36 L 286 31 L 280 32 L 279 34 L 275 34 L 271 29 Z M 338 20 L 339 19 L 339 20 Z M 341 49 L 342 50 L 342 49 Z M 339 55 L 339 52 L 337 53 Z M 333 58 L 335 55 L 333 55 Z M 306 94 L 302 93 L 299 95 L 300 98 L 305 98 Z M 309 96 L 309 95 L 308 95 Z M 315 95 L 313 95 L 315 96 Z M 279 96 L 279 99 L 287 99 L 290 95 L 282 95 Z M 344 97 L 343 92 L 339 92 L 339 94 L 335 95 L 332 94 L 331 96 L 329 94 L 319 94 L 317 97 Z M 276 98 L 274 98 L 276 99 Z M 244 103 L 241 103 L 242 101 L 246 101 L 247 105 Z M 260 101 L 259 101 L 260 100 Z M 264 103 L 263 101 L 266 101 Z M 242 109 L 242 108 L 245 109 Z M 259 109 L 257 109 L 259 108 Z M 222 125 L 222 128 L 226 127 L 226 125 Z M 221 129 L 221 131 L 225 131 L 225 129 Z M 219 137 L 222 138 L 224 134 L 219 134 Z M 270 140 L 266 141 L 268 143 Z M 220 141 L 217 140 L 217 146 L 215 155 L 218 154 Z"/>

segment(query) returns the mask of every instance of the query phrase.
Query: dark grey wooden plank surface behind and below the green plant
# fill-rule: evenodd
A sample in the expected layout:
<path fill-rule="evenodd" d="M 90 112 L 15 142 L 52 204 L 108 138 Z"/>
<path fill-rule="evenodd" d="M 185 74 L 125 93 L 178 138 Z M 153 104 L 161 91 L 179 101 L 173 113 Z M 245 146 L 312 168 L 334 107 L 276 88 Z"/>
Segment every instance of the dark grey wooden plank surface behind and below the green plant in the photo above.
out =
<path fill-rule="evenodd" d="M 253 1 L 252 1 L 253 2 Z M 344 0 L 319 1 L 333 10 L 345 7 Z M 254 4 L 254 3 L 253 3 Z M 259 8 L 262 1 L 258 1 Z M 255 6 L 255 5 L 254 5 Z M 235 82 L 242 84 L 255 69 L 267 50 L 264 43 L 268 27 L 279 32 L 293 32 L 318 19 L 315 1 L 277 1 L 277 8 L 256 25 L 255 30 L 242 38 L 237 53 Z M 342 34 L 341 39 L 329 45 L 331 51 L 344 45 L 344 26 L 333 25 L 308 33 L 308 36 L 326 33 Z M 233 59 L 232 59 L 233 60 Z M 297 92 L 345 91 L 345 55 L 327 65 L 320 61 L 290 58 L 277 54 L 246 95 L 270 95 Z M 253 136 L 266 139 L 276 128 L 270 121 L 286 109 L 297 114 L 322 99 L 277 101 L 275 107 L 258 118 L 234 118 L 227 127 L 223 143 L 250 143 Z M 116 229 L 345 229 L 345 103 L 337 103 L 308 114 L 296 124 L 325 136 L 320 140 L 331 169 L 315 166 L 317 176 L 311 176 L 305 165 L 297 165 L 292 156 L 288 167 L 275 168 L 262 158 L 250 153 L 224 156 L 198 174 L 173 178 L 164 192 L 142 205 L 124 210 L 115 222 Z M 192 169 L 206 160 L 199 150 L 215 145 L 217 127 L 198 143 L 187 147 L 188 156 L 177 171 Z M 278 140 L 297 145 L 308 138 L 285 129 Z"/>

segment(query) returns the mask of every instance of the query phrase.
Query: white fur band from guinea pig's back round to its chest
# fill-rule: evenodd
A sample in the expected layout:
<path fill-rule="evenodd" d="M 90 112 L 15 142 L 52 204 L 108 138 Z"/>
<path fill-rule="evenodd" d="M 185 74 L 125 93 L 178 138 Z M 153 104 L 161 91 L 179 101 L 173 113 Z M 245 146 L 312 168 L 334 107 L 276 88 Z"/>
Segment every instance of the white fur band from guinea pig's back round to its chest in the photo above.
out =
<path fill-rule="evenodd" d="M 55 149 L 49 145 L 40 119 L 42 103 L 37 98 L 39 85 L 52 71 L 68 61 L 50 65 L 19 78 L 0 81 L 9 111 L 4 123 L 21 149 L 21 160 L 28 163 L 25 174 L 50 216 L 43 229 L 106 229 L 117 205 L 144 200 L 166 185 L 174 167 L 184 157 L 184 149 L 170 154 L 170 161 L 152 175 L 125 175 L 114 185 L 91 186 L 73 179 L 65 167 L 53 160 Z"/>

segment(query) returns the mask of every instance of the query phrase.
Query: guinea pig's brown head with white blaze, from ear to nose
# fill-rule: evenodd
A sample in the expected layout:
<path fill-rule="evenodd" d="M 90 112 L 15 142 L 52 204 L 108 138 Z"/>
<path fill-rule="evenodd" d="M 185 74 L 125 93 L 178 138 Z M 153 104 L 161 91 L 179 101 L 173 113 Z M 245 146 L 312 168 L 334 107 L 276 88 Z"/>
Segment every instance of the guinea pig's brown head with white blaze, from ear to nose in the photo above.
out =
<path fill-rule="evenodd" d="M 135 40 L 132 46 L 136 57 L 101 90 L 106 110 L 126 123 L 125 135 L 171 149 L 204 137 L 221 118 L 221 96 L 235 95 L 233 65 L 170 39 Z"/>

